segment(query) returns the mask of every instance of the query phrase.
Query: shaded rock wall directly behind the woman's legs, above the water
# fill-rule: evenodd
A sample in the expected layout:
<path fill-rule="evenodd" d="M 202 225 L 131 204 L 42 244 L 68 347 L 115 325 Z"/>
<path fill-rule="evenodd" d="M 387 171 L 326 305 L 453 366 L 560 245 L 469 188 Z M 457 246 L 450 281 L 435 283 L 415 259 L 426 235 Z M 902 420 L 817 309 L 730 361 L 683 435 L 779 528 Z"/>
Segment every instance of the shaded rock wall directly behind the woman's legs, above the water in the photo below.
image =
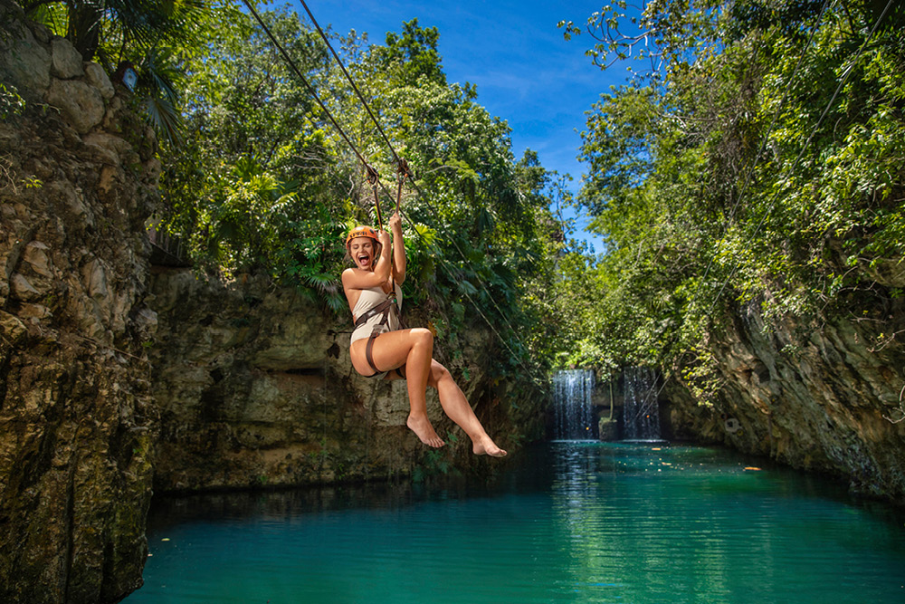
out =
<path fill-rule="evenodd" d="M 481 471 L 429 390 L 428 411 L 449 445 L 433 451 L 405 427 L 405 382 L 361 378 L 348 359 L 348 321 L 316 302 L 247 275 L 233 283 L 158 267 L 159 318 L 151 357 L 160 438 L 155 491 L 255 488 Z M 410 325 L 424 324 L 407 315 Z M 456 376 L 488 432 L 515 448 L 543 436 L 543 403 L 529 379 L 492 379 L 499 344 L 474 330 Z M 466 361 L 467 360 L 467 361 Z M 464 375 L 468 374 L 469 379 Z"/>

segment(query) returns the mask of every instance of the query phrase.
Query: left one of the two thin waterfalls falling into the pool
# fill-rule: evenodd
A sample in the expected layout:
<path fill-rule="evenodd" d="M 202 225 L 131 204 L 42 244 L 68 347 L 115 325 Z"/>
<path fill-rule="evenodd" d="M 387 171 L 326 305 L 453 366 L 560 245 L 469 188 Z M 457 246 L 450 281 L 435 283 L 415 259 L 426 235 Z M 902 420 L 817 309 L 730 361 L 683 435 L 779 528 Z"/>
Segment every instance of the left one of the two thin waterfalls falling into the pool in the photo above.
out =
<path fill-rule="evenodd" d="M 591 393 L 594 371 L 567 369 L 553 376 L 553 437 L 586 440 L 595 437 Z"/>

